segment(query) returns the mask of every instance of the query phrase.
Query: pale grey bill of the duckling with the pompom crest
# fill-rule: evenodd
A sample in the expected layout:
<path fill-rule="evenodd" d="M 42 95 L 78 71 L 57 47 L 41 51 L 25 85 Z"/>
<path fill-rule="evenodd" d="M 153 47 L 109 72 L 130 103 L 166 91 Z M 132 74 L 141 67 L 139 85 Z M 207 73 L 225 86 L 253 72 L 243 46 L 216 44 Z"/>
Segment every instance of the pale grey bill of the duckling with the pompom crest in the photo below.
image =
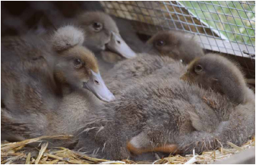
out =
<path fill-rule="evenodd" d="M 93 70 L 90 71 L 90 79 L 87 82 L 84 82 L 84 88 L 93 92 L 93 94 L 102 101 L 109 102 L 114 100 L 115 96 L 106 87 L 103 78 L 100 76 L 100 72 L 95 73 Z"/>

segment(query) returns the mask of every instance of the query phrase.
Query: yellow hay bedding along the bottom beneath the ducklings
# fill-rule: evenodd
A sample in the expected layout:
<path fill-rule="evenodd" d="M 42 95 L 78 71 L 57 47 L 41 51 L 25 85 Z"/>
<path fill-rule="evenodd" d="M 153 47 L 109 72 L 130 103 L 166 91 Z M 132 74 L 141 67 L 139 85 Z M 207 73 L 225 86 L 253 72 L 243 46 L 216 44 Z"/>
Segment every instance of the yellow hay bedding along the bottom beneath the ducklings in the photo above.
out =
<path fill-rule="evenodd" d="M 232 154 L 239 153 L 247 148 L 252 148 L 255 146 L 255 138 L 251 139 L 242 147 L 228 142 L 231 148 L 219 148 L 216 151 L 205 151 L 200 155 L 189 154 L 181 156 L 176 154 L 175 156 L 170 155 L 169 157 L 156 160 L 154 162 L 134 162 L 131 160 L 122 161 L 112 161 L 103 160 L 93 157 L 88 157 L 87 155 L 71 151 L 68 148 L 50 148 L 48 149 L 48 142 L 42 142 L 43 139 L 68 139 L 70 136 L 67 135 L 55 135 L 55 136 L 41 136 L 36 139 L 27 139 L 23 142 L 5 142 L 1 145 L 1 163 L 39 163 L 39 164 L 91 164 L 91 163 L 104 163 L 104 164 L 123 164 L 123 163 L 213 163 L 216 160 L 223 160 Z M 36 155 L 31 151 L 31 147 L 27 146 L 33 142 L 40 142 L 38 148 L 33 148 L 36 151 Z"/>

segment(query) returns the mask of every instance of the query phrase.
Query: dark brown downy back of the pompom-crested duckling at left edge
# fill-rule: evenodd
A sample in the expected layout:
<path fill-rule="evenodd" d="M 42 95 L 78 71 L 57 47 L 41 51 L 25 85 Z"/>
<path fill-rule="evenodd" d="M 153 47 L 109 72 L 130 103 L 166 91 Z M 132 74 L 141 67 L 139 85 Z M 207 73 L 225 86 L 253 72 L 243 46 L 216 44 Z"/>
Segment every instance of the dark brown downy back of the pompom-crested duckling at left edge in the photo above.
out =
<path fill-rule="evenodd" d="M 36 36 L 10 37 L 2 39 L 1 51 L 1 106 L 3 111 L 15 114 L 9 116 L 10 120 L 23 123 L 30 114 L 39 117 L 55 109 L 58 88 L 52 66 L 46 61 L 52 54 L 49 45 Z M 5 124 L 9 123 L 3 121 Z"/>

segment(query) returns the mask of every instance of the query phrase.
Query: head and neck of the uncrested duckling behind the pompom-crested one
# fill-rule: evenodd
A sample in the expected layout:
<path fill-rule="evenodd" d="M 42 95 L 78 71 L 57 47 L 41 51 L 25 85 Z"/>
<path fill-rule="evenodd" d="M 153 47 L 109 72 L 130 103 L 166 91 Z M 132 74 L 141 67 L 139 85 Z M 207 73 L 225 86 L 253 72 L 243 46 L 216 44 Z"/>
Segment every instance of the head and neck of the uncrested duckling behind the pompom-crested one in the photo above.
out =
<path fill-rule="evenodd" d="M 77 14 L 73 19 L 57 19 L 51 29 L 56 29 L 63 24 L 80 26 L 87 34 L 84 46 L 96 55 L 100 71 L 103 74 L 114 65 L 105 60 L 105 56 L 108 56 L 108 53 L 105 53 L 106 49 L 115 52 L 115 61 L 119 61 L 119 56 L 122 60 L 136 57 L 136 53 L 122 39 L 118 26 L 108 14 L 100 11 L 87 11 Z M 43 29 L 40 30 L 43 31 L 40 36 L 48 36 L 52 32 L 52 30 L 48 30 L 49 28 L 46 30 L 46 28 L 40 27 L 40 29 Z"/>

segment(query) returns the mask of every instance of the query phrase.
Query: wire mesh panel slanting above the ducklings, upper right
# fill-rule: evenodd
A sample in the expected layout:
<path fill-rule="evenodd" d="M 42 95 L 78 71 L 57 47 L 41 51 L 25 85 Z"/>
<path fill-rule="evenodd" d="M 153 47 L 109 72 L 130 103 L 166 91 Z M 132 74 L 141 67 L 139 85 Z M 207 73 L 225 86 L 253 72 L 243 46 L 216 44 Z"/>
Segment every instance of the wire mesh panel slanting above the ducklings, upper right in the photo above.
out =
<path fill-rule="evenodd" d="M 132 20 L 138 33 L 185 31 L 205 49 L 249 58 L 254 65 L 255 2 L 100 3 L 106 13 Z"/>

